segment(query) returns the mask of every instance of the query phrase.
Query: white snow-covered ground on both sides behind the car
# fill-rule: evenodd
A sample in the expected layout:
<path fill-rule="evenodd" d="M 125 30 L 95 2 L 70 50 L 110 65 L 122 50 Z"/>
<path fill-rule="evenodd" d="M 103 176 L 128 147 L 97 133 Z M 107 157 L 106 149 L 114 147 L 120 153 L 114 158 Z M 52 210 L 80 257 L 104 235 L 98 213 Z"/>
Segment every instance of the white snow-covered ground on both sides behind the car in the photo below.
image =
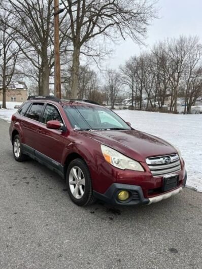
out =
<path fill-rule="evenodd" d="M 7 108 L 0 109 L 0 118 L 7 121 L 17 110 L 8 102 Z M 115 111 L 133 128 L 151 133 L 177 146 L 186 163 L 188 172 L 187 186 L 202 192 L 202 114 L 175 115 L 144 111 Z"/>

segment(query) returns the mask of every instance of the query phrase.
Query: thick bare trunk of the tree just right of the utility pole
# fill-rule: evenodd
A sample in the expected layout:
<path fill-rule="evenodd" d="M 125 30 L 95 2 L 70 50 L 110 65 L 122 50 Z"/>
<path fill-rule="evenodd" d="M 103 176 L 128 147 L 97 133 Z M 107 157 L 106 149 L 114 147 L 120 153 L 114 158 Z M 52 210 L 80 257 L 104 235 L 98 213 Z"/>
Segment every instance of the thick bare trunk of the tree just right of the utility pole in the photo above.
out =
<path fill-rule="evenodd" d="M 72 92 L 71 98 L 77 99 L 78 95 L 78 84 L 79 84 L 79 55 L 80 55 L 80 48 L 74 47 L 73 52 L 73 62 L 72 62 Z"/>

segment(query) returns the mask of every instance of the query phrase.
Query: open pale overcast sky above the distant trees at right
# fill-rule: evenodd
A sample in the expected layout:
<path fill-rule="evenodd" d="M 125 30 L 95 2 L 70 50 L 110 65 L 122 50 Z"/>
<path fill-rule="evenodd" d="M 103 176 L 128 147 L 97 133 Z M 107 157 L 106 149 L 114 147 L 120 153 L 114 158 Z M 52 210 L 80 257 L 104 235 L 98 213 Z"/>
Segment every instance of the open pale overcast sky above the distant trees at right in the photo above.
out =
<path fill-rule="evenodd" d="M 197 35 L 202 42 L 202 0 L 159 0 L 159 19 L 148 28 L 147 47 L 139 47 L 131 40 L 122 41 L 109 59 L 110 68 L 118 68 L 132 55 L 149 49 L 159 40 L 180 35 Z"/>

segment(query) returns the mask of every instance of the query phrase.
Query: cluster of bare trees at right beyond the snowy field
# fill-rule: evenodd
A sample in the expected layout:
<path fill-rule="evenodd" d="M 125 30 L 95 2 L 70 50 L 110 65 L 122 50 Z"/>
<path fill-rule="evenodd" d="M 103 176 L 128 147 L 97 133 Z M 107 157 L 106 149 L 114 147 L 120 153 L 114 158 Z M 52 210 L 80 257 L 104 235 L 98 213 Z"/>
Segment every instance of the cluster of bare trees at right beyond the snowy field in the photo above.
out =
<path fill-rule="evenodd" d="M 170 99 L 170 112 L 177 113 L 178 98 L 185 99 L 184 113 L 201 94 L 202 45 L 197 37 L 180 37 L 158 42 L 151 52 L 130 57 L 120 66 L 119 80 L 132 91 L 136 104 L 142 108 L 143 96 L 147 95 L 147 109 L 161 110 L 165 98 Z M 135 85 L 135 87 L 134 87 Z M 131 94 L 131 92 L 128 92 Z"/>

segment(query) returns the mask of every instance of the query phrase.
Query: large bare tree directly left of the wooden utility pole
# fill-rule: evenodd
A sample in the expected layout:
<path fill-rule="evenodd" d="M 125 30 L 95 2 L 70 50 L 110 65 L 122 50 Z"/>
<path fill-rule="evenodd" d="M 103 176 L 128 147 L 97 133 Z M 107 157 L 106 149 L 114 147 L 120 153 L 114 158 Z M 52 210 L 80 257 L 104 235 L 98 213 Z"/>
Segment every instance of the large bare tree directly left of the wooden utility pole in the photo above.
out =
<path fill-rule="evenodd" d="M 29 62 L 28 68 L 22 65 L 24 72 L 28 72 L 25 75 L 36 79 L 39 94 L 46 95 L 49 94 L 49 77 L 54 66 L 52 5 L 53 0 L 3 0 L 0 4 L 0 9 L 10 14 L 10 21 L 2 20 L 2 23 L 15 30 L 26 42 L 26 46 L 22 47 L 16 40 L 25 61 Z M 68 29 L 63 27 L 66 13 L 60 19 L 61 54 L 66 53 L 69 46 L 66 38 Z"/>

